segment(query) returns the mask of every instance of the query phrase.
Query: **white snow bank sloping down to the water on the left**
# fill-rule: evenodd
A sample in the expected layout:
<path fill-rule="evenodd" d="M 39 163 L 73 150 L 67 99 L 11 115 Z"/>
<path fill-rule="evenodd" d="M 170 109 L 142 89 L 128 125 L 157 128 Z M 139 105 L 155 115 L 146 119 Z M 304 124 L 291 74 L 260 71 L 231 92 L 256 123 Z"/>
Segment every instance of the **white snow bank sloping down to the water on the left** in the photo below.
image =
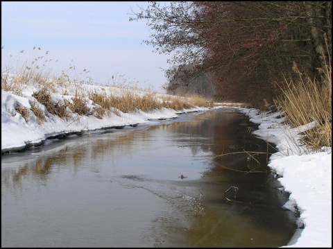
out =
<path fill-rule="evenodd" d="M 31 108 L 29 98 L 10 94 L 1 90 L 1 153 L 20 151 L 28 146 L 39 145 L 49 137 L 59 135 L 71 135 L 89 133 L 92 130 L 119 128 L 122 126 L 136 126 L 139 123 L 149 123 L 155 119 L 174 119 L 178 114 L 185 112 L 196 112 L 208 110 L 208 108 L 191 108 L 180 111 L 162 108 L 153 112 L 142 112 L 128 114 L 119 111 L 120 115 L 111 114 L 98 119 L 94 115 L 78 116 L 73 114 L 70 119 L 61 119 L 52 114 L 46 114 L 46 121 L 39 123 L 31 115 L 27 122 L 15 108 L 20 106 Z"/>

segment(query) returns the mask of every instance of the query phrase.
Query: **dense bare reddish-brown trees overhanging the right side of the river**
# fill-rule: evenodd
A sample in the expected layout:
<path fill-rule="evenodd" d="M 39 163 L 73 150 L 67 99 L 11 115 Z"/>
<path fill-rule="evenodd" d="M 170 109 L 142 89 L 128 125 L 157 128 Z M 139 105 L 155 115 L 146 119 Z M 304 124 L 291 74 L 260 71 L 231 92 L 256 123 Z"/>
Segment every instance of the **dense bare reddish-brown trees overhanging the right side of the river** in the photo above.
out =
<path fill-rule="evenodd" d="M 320 78 L 332 54 L 330 1 L 150 2 L 134 14 L 152 30 L 144 42 L 172 55 L 168 92 L 263 108 L 292 80 L 293 66 Z"/>

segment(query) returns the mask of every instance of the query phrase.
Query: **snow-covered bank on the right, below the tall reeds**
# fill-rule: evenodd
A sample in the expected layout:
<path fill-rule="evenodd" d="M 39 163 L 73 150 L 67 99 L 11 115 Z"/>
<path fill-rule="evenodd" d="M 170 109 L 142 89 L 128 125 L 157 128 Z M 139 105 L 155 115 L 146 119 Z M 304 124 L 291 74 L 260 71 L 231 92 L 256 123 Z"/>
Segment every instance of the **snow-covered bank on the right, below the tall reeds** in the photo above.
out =
<path fill-rule="evenodd" d="M 284 207 L 300 212 L 298 225 L 304 229 L 285 247 L 332 248 L 332 148 L 310 153 L 300 146 L 299 131 L 313 124 L 286 130 L 278 113 L 240 110 L 250 121 L 260 124 L 253 134 L 277 145 L 279 151 L 271 156 L 268 166 L 276 172 L 284 190 L 291 193 Z"/>

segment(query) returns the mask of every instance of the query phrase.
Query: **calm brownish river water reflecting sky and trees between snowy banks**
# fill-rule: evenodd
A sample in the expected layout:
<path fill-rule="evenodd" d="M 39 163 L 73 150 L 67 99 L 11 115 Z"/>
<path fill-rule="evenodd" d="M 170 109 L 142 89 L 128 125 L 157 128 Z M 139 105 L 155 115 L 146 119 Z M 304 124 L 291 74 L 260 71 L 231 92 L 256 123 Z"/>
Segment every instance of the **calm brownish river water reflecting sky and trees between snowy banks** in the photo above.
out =
<path fill-rule="evenodd" d="M 287 245 L 296 217 L 267 155 L 239 153 L 273 152 L 253 123 L 225 109 L 156 124 L 3 155 L 1 246 Z"/>

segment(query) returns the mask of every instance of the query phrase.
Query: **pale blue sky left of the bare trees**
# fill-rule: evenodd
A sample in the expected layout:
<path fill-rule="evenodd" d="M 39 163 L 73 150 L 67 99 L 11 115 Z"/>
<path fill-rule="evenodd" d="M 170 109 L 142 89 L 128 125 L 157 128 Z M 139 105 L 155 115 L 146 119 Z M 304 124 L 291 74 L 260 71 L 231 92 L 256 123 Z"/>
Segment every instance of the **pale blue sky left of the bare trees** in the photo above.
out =
<path fill-rule="evenodd" d="M 1 71 L 16 67 L 17 60 L 31 62 L 45 55 L 53 62 L 58 60 L 49 62 L 54 72 L 75 65 L 75 74 L 87 69 L 89 74 L 82 78 L 90 76 L 96 83 L 111 83 L 112 76 L 124 75 L 140 88 L 152 86 L 162 92 L 167 78 L 160 67 L 171 67 L 167 64 L 170 56 L 153 53 L 152 46 L 142 44 L 150 35 L 145 20 L 128 20 L 131 7 L 139 11 L 138 6 L 147 5 L 136 1 L 1 1 Z M 41 50 L 33 50 L 34 46 Z"/>

